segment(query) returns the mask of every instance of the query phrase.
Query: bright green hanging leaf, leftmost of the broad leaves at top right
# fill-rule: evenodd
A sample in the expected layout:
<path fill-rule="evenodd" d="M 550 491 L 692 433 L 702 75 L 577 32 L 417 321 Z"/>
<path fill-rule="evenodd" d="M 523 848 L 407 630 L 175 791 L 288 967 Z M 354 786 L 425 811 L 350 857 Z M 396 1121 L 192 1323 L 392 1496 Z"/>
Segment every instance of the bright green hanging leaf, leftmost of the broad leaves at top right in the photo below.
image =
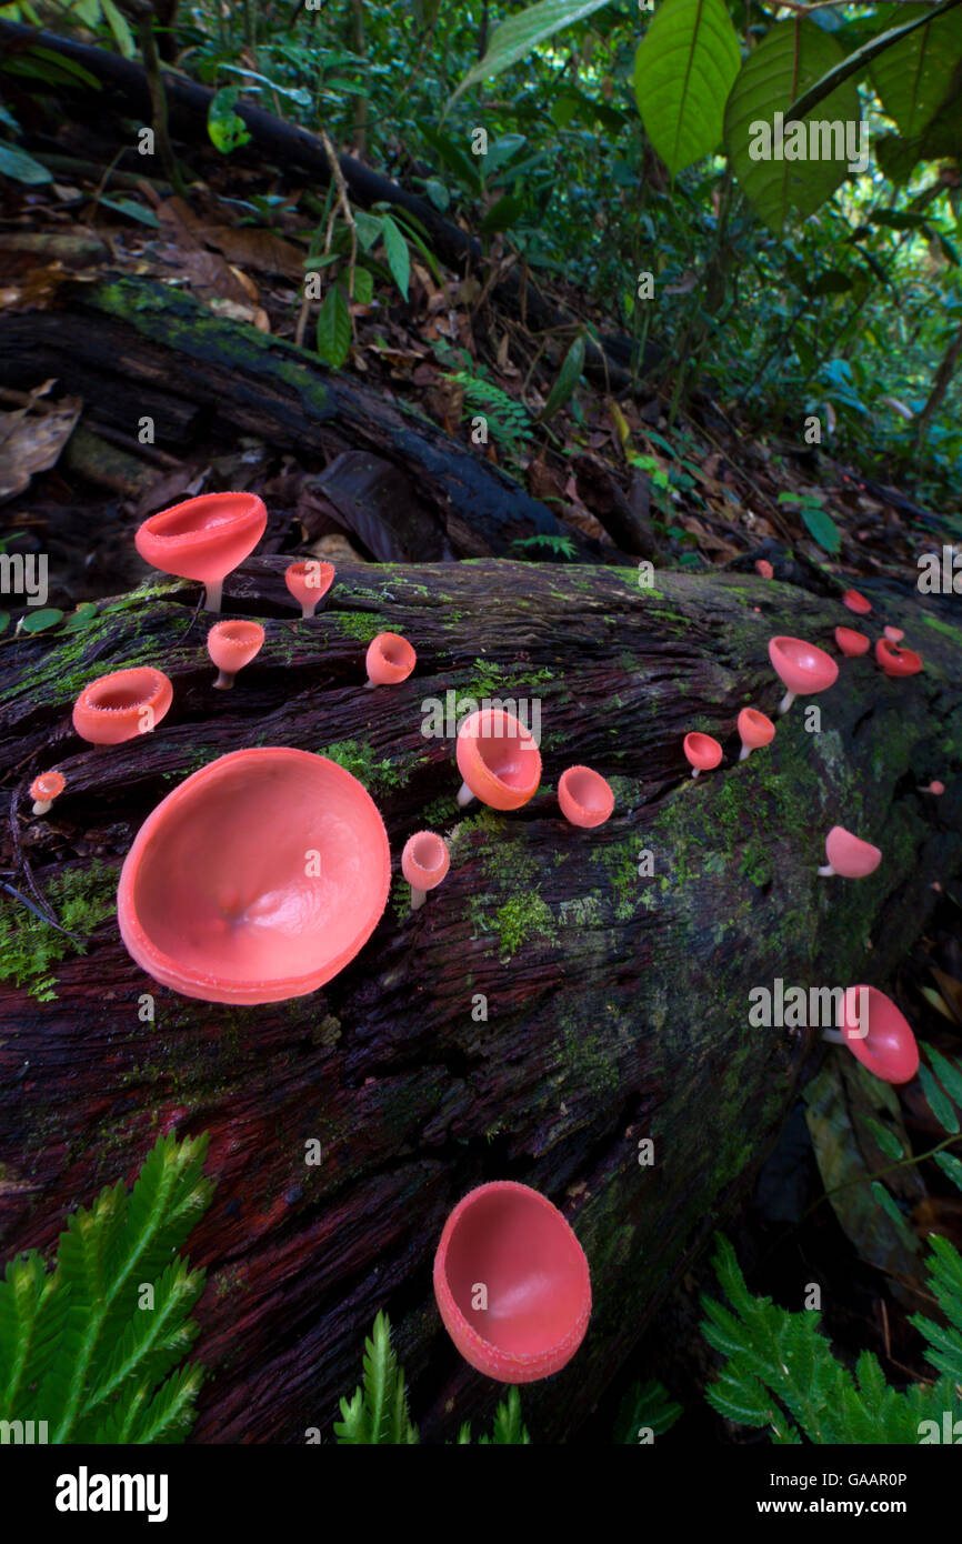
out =
<path fill-rule="evenodd" d="M 740 66 L 723 0 L 661 0 L 635 56 L 635 99 L 672 176 L 721 144 Z"/>

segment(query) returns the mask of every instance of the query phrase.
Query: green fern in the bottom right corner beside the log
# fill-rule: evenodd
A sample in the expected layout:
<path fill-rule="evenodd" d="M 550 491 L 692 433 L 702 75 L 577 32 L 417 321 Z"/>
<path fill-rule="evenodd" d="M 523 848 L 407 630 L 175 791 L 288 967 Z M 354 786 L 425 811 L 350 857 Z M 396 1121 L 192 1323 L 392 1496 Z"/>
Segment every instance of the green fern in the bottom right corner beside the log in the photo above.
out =
<path fill-rule="evenodd" d="M 789 1312 L 769 1297 L 754 1297 L 735 1251 L 716 1240 L 715 1271 L 727 1305 L 703 1297 L 703 1334 L 726 1362 L 706 1390 L 729 1420 L 767 1427 L 775 1444 L 917 1444 L 922 1420 L 962 1417 L 962 1257 L 934 1238 L 931 1285 L 950 1319 L 947 1331 L 930 1320 L 913 1323 L 928 1340 L 926 1359 L 943 1376 L 936 1383 L 889 1388 L 876 1356 L 863 1351 L 854 1376 L 832 1354 L 814 1311 Z"/>

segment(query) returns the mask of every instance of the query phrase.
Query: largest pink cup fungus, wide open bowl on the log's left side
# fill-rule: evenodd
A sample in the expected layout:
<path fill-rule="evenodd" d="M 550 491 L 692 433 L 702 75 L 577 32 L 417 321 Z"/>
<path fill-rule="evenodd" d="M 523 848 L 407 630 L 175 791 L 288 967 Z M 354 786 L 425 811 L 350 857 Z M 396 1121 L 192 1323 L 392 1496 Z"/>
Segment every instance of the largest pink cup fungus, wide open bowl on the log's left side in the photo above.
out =
<path fill-rule="evenodd" d="M 185 997 L 284 1002 L 355 957 L 389 885 L 384 821 L 351 772 L 306 750 L 233 750 L 147 817 L 117 920 L 137 965 Z"/>

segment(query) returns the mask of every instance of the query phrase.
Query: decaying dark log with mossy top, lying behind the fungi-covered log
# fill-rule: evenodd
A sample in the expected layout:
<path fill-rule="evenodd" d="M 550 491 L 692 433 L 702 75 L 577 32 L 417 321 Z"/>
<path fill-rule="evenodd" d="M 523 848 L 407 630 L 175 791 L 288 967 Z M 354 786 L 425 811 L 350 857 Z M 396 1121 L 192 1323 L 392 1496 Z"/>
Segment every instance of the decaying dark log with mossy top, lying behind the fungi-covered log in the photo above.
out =
<path fill-rule="evenodd" d="M 383 525 L 388 505 L 401 542 L 417 520 L 420 556 L 517 556 L 517 539 L 562 534 L 548 506 L 483 452 L 292 343 L 225 321 L 162 284 L 117 278 L 68 290 L 54 310 L 0 318 L 0 384 L 28 389 L 54 375 L 83 397 L 96 423 L 136 437 L 148 415 L 167 446 L 202 434 L 225 446 L 253 434 L 301 457 L 364 451 L 386 482 L 371 522 Z M 369 543 L 371 527 L 358 534 Z M 564 534 L 585 562 L 605 551 L 616 559 L 593 537 Z"/>

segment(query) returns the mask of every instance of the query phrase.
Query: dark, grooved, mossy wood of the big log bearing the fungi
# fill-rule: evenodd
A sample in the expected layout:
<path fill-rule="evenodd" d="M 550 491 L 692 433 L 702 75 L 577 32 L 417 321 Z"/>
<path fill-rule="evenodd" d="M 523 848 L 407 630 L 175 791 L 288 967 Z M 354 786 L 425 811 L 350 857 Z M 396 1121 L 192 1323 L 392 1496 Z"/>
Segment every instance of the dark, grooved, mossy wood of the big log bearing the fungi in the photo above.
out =
<path fill-rule="evenodd" d="M 133 963 L 113 917 L 53 967 L 56 997 L 8 980 L 3 1254 L 49 1246 L 69 1206 L 133 1177 L 158 1130 L 210 1130 L 218 1187 L 190 1248 L 210 1272 L 196 1439 L 327 1437 L 378 1308 L 397 1326 L 415 1419 L 449 1437 L 499 1390 L 440 1326 L 434 1248 L 471 1186 L 517 1178 L 564 1207 L 591 1265 L 581 1353 L 523 1393 L 534 1439 L 559 1439 L 724 1215 L 815 1053 L 811 1033 L 749 1028 L 749 990 L 883 984 L 925 926 L 933 882 L 962 866 L 962 633 L 917 598 L 872 616 L 872 631 L 908 630 L 925 672 L 889 681 L 871 656 L 842 661 L 812 699 L 821 730 L 806 732 L 798 701 L 740 764 L 738 710 L 774 713 L 781 695 L 767 639 L 832 647 L 849 619 L 837 601 L 735 574 L 656 574 L 644 590 L 599 567 L 358 565 L 301 622 L 283 570 L 253 559 L 227 582 L 225 615 L 267 630 L 229 693 L 212 690 L 207 618 L 185 582 L 103 602 L 86 633 L 0 647 L 0 764 L 40 891 L 119 868 L 179 778 L 258 744 L 334 747 L 375 797 L 395 866 L 374 937 L 310 997 L 179 997 Z M 381 628 L 405 633 L 418 662 L 403 686 L 366 692 L 364 648 Z M 173 678 L 168 718 L 108 752 L 83 746 L 76 692 L 134 662 Z M 454 746 L 422 735 L 425 699 L 449 689 L 540 701 L 544 787 L 522 811 L 456 809 Z M 681 755 L 690 729 L 726 746 L 698 781 Z M 559 815 L 553 789 L 571 763 L 615 786 L 598 831 Z M 68 791 L 34 820 L 26 786 L 53 764 Z M 933 777 L 942 800 L 917 791 Z M 817 877 L 835 821 L 885 851 L 862 883 Z M 448 834 L 451 872 L 411 913 L 400 852 L 425 826 Z M 9 848 L 11 823 L 5 835 Z M 639 875 L 644 849 L 653 872 Z M 23 871 L 12 883 L 29 894 Z M 3 914 L 6 939 L 11 916 L 43 931 L 11 897 Z M 645 1136 L 653 1166 L 638 1161 Z"/>

